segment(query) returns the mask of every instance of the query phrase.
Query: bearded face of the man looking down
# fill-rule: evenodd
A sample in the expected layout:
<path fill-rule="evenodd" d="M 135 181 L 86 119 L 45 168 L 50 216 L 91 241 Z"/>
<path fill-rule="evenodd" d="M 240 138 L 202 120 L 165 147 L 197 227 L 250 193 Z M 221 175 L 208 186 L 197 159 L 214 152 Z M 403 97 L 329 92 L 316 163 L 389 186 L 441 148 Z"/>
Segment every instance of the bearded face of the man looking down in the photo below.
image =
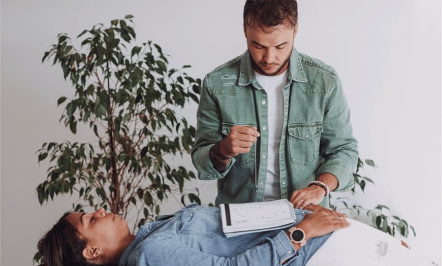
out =
<path fill-rule="evenodd" d="M 286 71 L 297 31 L 298 24 L 294 28 L 283 24 L 265 31 L 244 27 L 253 69 L 265 76 L 277 76 Z"/>

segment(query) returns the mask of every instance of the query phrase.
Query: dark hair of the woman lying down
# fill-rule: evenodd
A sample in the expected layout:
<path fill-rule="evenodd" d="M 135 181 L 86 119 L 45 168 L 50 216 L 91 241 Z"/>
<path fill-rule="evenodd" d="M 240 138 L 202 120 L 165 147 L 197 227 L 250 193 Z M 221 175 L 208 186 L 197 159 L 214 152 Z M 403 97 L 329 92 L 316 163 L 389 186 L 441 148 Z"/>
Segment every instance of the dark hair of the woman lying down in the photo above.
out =
<path fill-rule="evenodd" d="M 37 248 L 43 256 L 45 266 L 92 266 L 103 265 L 87 261 L 82 251 L 86 247 L 85 239 L 66 217 L 65 213 L 44 235 Z"/>

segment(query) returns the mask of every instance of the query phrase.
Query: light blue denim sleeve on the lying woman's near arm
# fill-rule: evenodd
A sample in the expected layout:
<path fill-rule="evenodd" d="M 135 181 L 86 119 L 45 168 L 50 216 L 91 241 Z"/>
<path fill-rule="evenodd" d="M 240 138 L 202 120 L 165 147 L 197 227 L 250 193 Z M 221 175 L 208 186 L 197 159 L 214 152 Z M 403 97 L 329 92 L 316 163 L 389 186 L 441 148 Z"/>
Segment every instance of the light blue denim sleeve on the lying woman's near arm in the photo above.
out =
<path fill-rule="evenodd" d="M 266 239 L 262 245 L 233 257 L 208 254 L 198 248 L 183 245 L 176 239 L 154 237 L 144 242 L 137 265 L 281 265 L 282 261 L 293 261 L 297 256 L 298 253 L 283 231 L 272 239 Z"/>

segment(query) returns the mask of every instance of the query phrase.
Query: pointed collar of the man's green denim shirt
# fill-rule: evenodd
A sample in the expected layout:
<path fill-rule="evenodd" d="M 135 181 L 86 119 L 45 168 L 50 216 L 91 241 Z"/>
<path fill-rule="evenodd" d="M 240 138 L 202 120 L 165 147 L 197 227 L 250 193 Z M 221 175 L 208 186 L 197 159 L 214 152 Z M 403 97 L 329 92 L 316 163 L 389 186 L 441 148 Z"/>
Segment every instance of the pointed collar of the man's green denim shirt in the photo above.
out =
<path fill-rule="evenodd" d="M 293 47 L 292 54 L 290 55 L 290 63 L 289 63 L 289 80 L 297 81 L 297 82 L 306 82 L 307 78 L 305 77 L 304 70 L 302 69 L 301 58 L 296 51 L 295 47 Z M 239 74 L 239 82 L 240 86 L 246 86 L 250 83 L 257 84 L 253 67 L 251 64 L 250 53 L 248 50 L 244 52 L 241 57 L 241 70 Z"/>

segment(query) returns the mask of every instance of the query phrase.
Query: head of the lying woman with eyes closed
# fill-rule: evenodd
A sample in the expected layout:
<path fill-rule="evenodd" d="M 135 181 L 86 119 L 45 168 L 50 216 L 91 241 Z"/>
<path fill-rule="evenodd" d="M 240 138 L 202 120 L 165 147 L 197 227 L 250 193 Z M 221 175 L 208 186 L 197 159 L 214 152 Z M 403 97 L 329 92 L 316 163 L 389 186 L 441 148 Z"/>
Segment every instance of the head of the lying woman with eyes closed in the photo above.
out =
<path fill-rule="evenodd" d="M 134 240 L 127 222 L 101 208 L 65 213 L 39 241 L 46 266 L 115 265 Z"/>

